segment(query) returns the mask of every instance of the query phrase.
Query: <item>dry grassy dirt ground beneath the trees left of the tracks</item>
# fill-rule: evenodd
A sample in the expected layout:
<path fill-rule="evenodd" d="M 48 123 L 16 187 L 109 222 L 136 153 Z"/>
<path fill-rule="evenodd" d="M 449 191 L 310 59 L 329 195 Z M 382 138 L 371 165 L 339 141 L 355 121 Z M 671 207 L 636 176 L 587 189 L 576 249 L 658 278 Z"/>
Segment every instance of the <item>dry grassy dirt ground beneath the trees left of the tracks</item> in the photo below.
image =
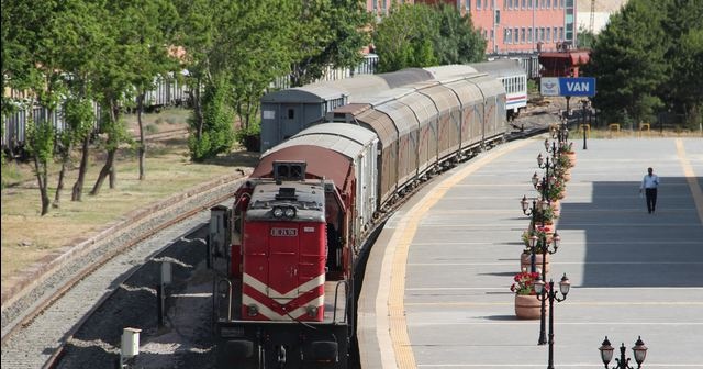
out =
<path fill-rule="evenodd" d="M 252 167 L 257 163 L 258 153 L 247 153 L 241 148 L 207 163 L 191 163 L 186 144 L 187 116 L 188 112 L 181 109 L 144 116 L 148 134 L 165 136 L 148 143 L 144 180 L 138 179 L 136 152 L 122 148 L 116 163 L 116 187 L 110 189 L 105 181 L 99 194 L 90 195 L 98 172 L 104 164 L 103 152 L 92 150 L 80 202 L 70 201 L 79 165 L 76 153 L 65 179 L 60 205 L 52 208 L 44 216 L 40 216 L 41 199 L 33 166 L 19 161 L 2 166 L 0 261 L 3 301 L 5 292 L 20 282 L 29 270 L 41 268 L 43 260 L 46 261 L 124 220 L 135 209 L 158 202 L 209 179 L 232 174 L 235 168 Z M 131 132 L 136 135 L 136 118 L 127 116 L 127 122 Z M 58 171 L 58 164 L 53 164 L 48 179 L 52 200 L 56 193 Z"/>

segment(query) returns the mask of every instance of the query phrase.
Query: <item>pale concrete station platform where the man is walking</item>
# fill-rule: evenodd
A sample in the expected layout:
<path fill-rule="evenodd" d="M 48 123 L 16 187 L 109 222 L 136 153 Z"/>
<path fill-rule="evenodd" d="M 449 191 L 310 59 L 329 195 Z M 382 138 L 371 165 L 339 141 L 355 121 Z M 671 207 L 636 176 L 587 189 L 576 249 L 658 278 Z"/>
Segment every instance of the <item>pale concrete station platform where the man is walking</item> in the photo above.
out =
<path fill-rule="evenodd" d="M 517 320 L 509 290 L 529 223 L 520 200 L 537 195 L 531 177 L 544 174 L 544 138 L 471 159 L 388 222 L 358 306 L 364 369 L 547 367 L 539 321 Z M 703 139 L 581 146 L 574 141 L 547 277 L 567 273 L 572 283 L 554 308 L 555 368 L 602 368 L 607 335 L 635 367 L 631 348 L 641 336 L 643 368 L 703 369 Z M 654 214 L 639 197 L 649 166 L 661 179 Z"/>

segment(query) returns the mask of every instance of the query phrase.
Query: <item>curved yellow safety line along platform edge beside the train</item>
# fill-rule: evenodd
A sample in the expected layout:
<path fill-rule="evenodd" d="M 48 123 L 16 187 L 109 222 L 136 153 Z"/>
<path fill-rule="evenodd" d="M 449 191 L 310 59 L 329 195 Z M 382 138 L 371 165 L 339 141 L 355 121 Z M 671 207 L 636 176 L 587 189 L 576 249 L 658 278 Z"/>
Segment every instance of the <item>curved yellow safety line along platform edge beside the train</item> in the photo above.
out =
<path fill-rule="evenodd" d="M 415 204 L 398 223 L 398 227 L 389 244 L 395 245 L 395 253 L 393 255 L 393 267 L 391 272 L 391 284 L 388 297 L 388 316 L 389 316 L 389 331 L 391 335 L 391 342 L 393 345 L 393 351 L 395 354 L 395 365 L 401 369 L 416 368 L 415 357 L 413 354 L 410 338 L 408 336 L 408 323 L 405 322 L 405 306 L 404 306 L 404 291 L 405 291 L 405 262 L 408 260 L 408 251 L 410 244 L 415 237 L 420 221 L 425 213 L 429 211 L 451 187 L 464 180 L 482 166 L 493 161 L 494 159 L 513 152 L 517 148 L 526 146 L 527 144 L 534 144 L 535 141 L 525 139 L 517 143 L 512 143 L 500 148 L 493 149 L 491 153 L 483 157 L 475 159 L 476 161 L 468 165 L 466 168 L 454 174 L 449 178 L 443 180 L 437 186 L 433 187 L 431 193 L 428 193 L 423 200 Z"/>

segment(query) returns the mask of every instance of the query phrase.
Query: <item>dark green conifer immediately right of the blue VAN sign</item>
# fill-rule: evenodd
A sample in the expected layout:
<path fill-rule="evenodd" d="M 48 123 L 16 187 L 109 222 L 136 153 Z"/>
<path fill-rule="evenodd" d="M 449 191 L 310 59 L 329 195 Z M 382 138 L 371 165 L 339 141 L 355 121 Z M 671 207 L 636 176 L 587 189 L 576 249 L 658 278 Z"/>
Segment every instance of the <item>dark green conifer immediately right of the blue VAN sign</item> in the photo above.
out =
<path fill-rule="evenodd" d="M 596 38 L 585 72 L 599 80 L 593 103 L 606 116 L 649 121 L 662 107 L 657 89 L 669 71 L 663 10 L 656 0 L 632 0 Z"/>

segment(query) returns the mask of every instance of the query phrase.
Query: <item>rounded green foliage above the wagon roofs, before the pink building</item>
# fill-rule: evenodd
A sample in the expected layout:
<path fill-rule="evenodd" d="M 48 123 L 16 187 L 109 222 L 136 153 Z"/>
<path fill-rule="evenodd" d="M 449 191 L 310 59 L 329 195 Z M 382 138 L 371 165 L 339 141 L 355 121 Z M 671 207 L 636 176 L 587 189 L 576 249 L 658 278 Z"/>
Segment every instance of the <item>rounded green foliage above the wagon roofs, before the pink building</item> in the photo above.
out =
<path fill-rule="evenodd" d="M 379 71 L 481 62 L 486 53 L 470 16 L 449 5 L 395 5 L 378 24 L 373 43 Z"/>

